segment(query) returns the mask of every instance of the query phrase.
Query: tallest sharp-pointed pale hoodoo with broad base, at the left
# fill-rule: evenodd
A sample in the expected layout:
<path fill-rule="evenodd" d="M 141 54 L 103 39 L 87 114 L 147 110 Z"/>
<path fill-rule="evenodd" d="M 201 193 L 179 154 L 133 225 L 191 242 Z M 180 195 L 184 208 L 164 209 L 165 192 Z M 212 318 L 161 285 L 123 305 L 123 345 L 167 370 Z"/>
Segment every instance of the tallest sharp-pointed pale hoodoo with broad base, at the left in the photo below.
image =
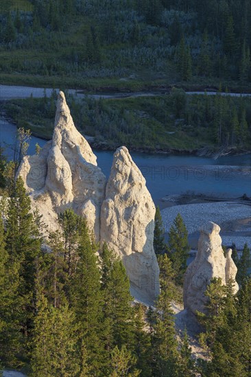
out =
<path fill-rule="evenodd" d="M 106 177 L 97 167 L 90 145 L 75 128 L 64 93 L 58 95 L 52 141 L 38 156 L 23 159 L 19 175 L 50 230 L 56 229 L 56 214 L 73 208 L 94 227 L 99 241 Z"/>

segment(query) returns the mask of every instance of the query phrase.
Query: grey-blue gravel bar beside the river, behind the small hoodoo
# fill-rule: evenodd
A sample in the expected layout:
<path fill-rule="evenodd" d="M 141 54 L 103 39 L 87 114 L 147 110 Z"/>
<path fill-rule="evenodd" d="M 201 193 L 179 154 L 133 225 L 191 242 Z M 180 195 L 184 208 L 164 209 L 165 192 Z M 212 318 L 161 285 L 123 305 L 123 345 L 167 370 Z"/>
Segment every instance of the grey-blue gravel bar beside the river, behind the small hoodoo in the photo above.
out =
<path fill-rule="evenodd" d="M 223 245 L 235 243 L 239 250 L 245 243 L 251 246 L 251 206 L 237 202 L 211 202 L 182 204 L 161 210 L 165 231 L 169 232 L 175 217 L 180 213 L 189 232 L 189 242 L 195 248 L 199 230 L 206 221 L 217 223 L 222 231 Z"/>

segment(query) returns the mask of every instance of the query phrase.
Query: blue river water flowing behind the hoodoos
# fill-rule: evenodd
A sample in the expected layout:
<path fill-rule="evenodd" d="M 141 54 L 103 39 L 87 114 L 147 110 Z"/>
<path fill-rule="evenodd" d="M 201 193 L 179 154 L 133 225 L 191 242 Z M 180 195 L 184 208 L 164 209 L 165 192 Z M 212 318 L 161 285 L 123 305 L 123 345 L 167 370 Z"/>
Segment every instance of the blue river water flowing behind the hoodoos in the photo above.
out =
<path fill-rule="evenodd" d="M 72 90 L 71 93 L 75 93 Z M 25 98 L 29 95 L 43 97 L 43 88 L 0 86 L 0 99 Z M 51 89 L 46 90 L 47 95 Z M 84 96 L 84 95 L 81 95 Z M 112 97 L 112 95 L 110 95 Z M 0 145 L 12 144 L 16 126 L 0 118 Z M 34 154 L 35 145 L 46 143 L 32 136 L 28 153 Z M 108 177 L 112 165 L 112 151 L 94 150 L 97 163 Z M 12 150 L 6 149 L 8 158 Z M 250 161 L 251 155 L 224 156 L 214 160 L 198 156 L 174 156 L 167 154 L 141 154 L 132 152 L 132 159 L 141 169 L 155 204 L 163 206 L 161 198 L 166 195 L 183 194 L 187 191 L 215 195 L 217 197 L 240 197 L 243 193 L 251 196 Z"/>

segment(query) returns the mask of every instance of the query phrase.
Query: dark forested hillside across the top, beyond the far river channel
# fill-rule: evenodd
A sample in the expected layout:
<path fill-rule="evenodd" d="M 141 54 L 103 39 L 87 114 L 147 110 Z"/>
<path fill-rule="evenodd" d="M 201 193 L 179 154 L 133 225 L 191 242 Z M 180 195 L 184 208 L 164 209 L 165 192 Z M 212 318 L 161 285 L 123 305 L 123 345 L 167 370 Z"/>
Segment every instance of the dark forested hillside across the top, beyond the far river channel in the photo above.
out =
<path fill-rule="evenodd" d="M 249 0 L 2 0 L 5 84 L 251 90 Z"/>

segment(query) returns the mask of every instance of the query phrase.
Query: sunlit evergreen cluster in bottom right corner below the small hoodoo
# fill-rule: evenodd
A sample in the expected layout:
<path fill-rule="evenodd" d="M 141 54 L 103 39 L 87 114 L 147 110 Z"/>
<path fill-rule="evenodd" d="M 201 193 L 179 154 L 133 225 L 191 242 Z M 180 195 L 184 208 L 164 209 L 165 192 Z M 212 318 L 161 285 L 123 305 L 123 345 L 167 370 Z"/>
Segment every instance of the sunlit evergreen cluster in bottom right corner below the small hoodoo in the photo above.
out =
<path fill-rule="evenodd" d="M 222 286 L 220 278 L 211 280 L 205 293 L 207 314 L 198 313 L 205 327 L 201 343 L 211 357 L 202 376 L 250 376 L 250 293 L 250 278 L 243 281 L 237 296 L 232 295 L 232 282 Z"/>

